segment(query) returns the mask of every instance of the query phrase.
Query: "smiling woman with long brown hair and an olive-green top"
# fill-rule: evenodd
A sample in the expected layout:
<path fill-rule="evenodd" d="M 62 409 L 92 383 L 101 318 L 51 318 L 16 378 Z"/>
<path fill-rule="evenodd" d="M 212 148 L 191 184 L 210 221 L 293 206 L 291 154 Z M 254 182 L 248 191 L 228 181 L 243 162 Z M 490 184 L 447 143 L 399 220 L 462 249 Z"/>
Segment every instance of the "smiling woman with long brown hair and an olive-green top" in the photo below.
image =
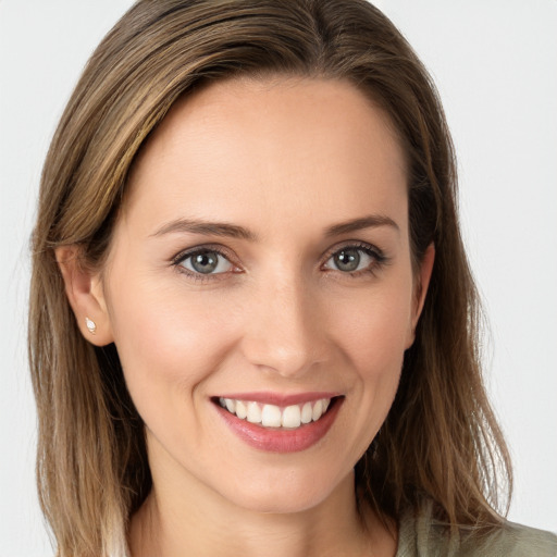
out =
<path fill-rule="evenodd" d="M 59 555 L 555 554 L 499 515 L 455 188 L 435 90 L 367 2 L 134 5 L 34 234 Z"/>

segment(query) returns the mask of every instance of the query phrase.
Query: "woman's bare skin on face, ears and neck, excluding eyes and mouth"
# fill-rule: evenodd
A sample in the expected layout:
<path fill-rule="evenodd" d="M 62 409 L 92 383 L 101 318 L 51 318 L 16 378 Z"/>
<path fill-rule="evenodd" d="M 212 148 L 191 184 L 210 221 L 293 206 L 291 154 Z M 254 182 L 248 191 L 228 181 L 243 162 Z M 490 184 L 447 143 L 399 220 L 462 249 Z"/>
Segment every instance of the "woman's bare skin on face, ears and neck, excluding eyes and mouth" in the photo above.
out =
<path fill-rule="evenodd" d="M 392 223 L 324 233 L 368 215 Z M 163 231 L 178 219 L 257 239 Z M 384 261 L 358 251 L 357 274 L 339 269 L 333 255 L 355 244 Z M 223 250 L 223 272 L 196 281 L 176 263 L 199 246 Z M 75 249 L 58 258 L 83 334 L 115 343 L 146 424 L 153 490 L 134 557 L 395 555 L 394 524 L 356 512 L 352 469 L 394 399 L 434 256 L 412 272 L 405 157 L 377 107 L 338 81 L 211 85 L 141 151 L 104 268 L 78 268 Z M 319 443 L 276 454 L 211 400 L 253 391 L 344 401 Z"/>

